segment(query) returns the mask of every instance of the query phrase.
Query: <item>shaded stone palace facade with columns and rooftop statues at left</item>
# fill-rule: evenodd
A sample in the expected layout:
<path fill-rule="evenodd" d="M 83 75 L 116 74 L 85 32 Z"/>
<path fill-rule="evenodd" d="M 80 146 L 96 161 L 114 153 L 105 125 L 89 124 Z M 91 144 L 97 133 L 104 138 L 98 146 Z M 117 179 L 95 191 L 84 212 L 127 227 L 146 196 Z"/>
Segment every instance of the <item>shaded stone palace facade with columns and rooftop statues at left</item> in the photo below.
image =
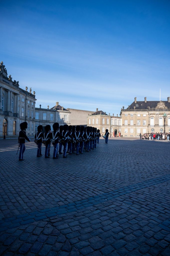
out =
<path fill-rule="evenodd" d="M 35 127 L 35 92 L 33 94 L 19 87 L 12 80 L 3 62 L 0 64 L 0 137 L 18 136 L 21 122 L 28 122 L 27 133 L 33 133 Z"/>

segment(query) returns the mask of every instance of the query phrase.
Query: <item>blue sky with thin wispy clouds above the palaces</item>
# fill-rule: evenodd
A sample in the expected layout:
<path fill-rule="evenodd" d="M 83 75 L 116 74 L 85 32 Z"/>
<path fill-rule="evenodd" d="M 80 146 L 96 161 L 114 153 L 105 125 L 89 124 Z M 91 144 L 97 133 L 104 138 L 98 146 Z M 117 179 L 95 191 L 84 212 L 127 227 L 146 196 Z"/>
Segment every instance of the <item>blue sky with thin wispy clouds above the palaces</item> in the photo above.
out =
<path fill-rule="evenodd" d="M 8 75 L 36 91 L 36 107 L 119 114 L 170 96 L 169 1 L 3 1 Z"/>

